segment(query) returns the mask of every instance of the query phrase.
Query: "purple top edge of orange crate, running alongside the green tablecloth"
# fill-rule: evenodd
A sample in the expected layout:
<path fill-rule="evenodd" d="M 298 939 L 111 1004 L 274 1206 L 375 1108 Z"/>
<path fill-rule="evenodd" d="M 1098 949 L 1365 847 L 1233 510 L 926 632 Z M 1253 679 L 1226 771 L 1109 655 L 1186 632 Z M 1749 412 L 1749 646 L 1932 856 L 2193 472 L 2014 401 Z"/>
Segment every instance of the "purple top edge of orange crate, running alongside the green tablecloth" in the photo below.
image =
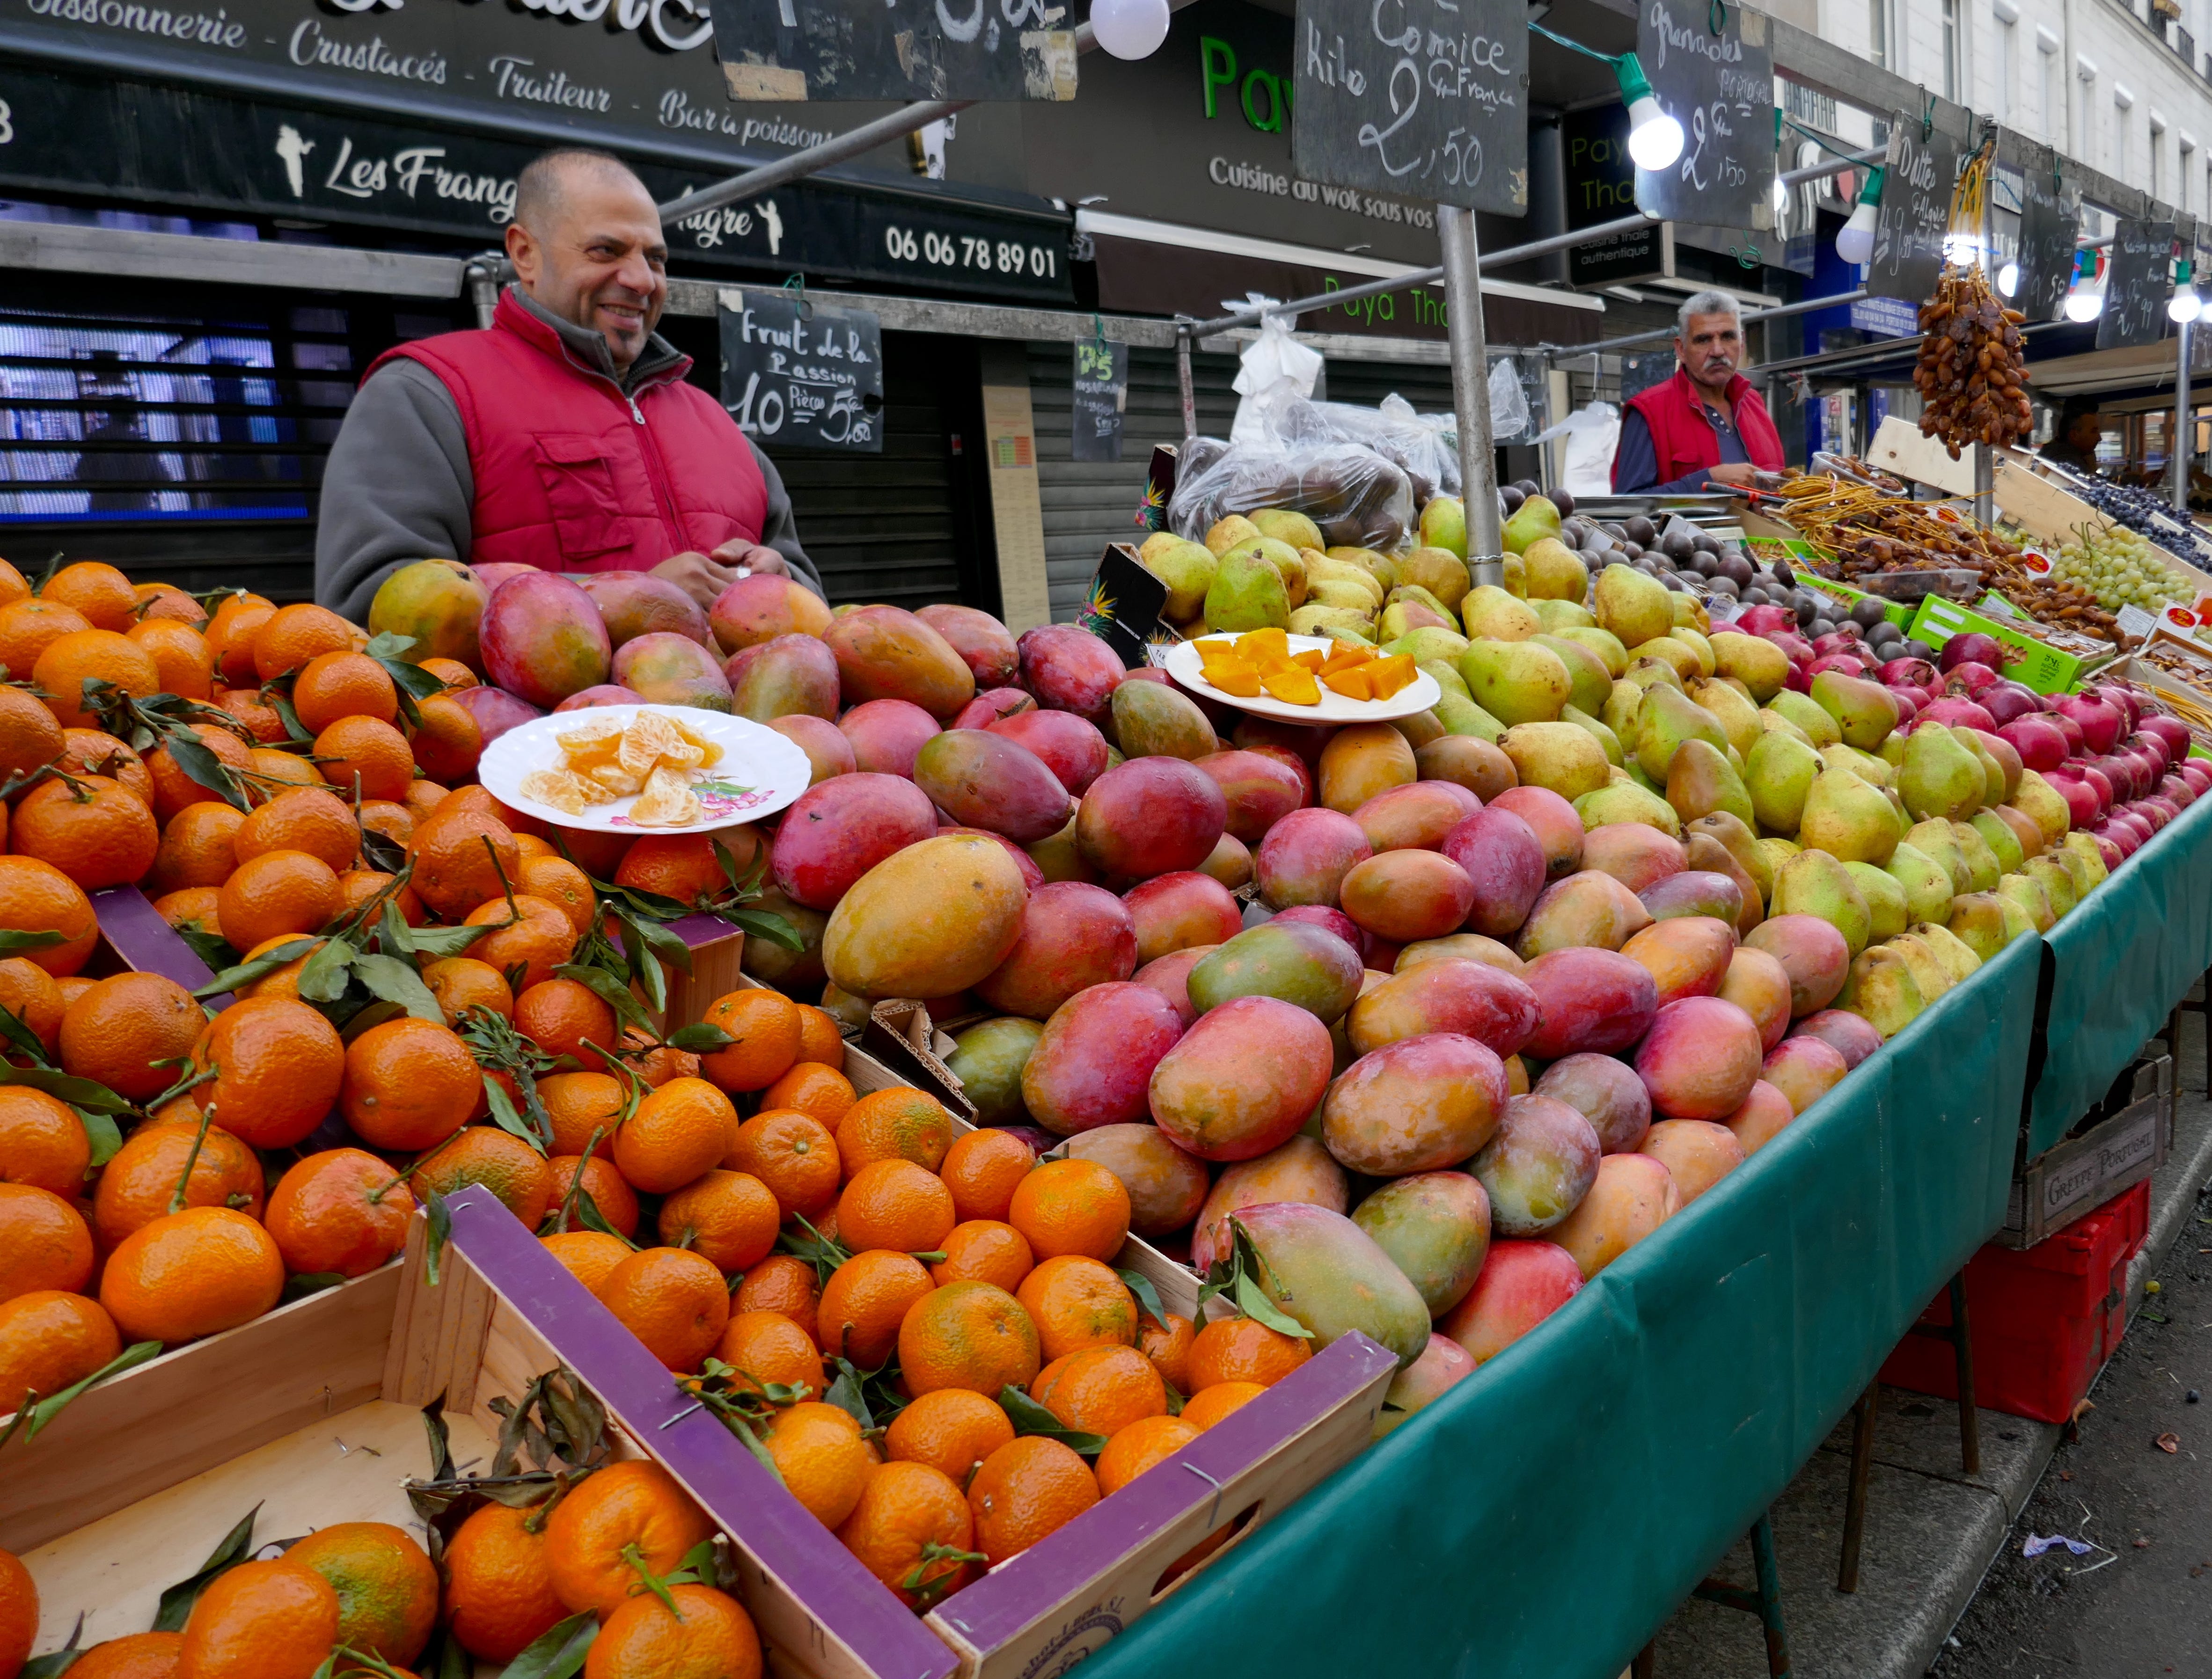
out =
<path fill-rule="evenodd" d="M 1367 1336 L 1343 1336 L 1256 1400 L 1239 1405 L 1188 1447 L 1155 1464 L 1155 1471 L 1168 1473 L 1146 1471 L 1113 1498 L 1102 1498 L 1057 1533 L 951 1597 L 938 1617 L 958 1626 L 978 1650 L 995 1650 L 1060 1602 L 1068 1582 L 1091 1579 L 1177 1518 L 1221 1498 L 1208 1478 L 1228 1487 L 1232 1478 L 1396 1365 L 1398 1360 Z M 1203 1475 L 1190 1473 L 1192 1469 Z M 1228 1522 L 1239 1509 L 1241 1500 L 1232 1504 L 1221 1498 L 1214 1520 Z M 1124 1619 L 1135 1619 L 1148 1606 L 1148 1602 L 1135 1606 Z"/>

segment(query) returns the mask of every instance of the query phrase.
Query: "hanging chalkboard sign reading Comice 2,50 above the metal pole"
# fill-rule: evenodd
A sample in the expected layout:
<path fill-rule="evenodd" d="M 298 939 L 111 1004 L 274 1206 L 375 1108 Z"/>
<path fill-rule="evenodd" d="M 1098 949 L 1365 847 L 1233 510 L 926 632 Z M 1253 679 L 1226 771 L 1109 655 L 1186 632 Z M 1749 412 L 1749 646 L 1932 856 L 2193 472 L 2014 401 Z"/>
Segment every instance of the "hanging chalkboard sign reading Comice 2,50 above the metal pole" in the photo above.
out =
<path fill-rule="evenodd" d="M 1524 0 L 1298 0 L 1292 166 L 1528 215 L 1526 18 Z"/>

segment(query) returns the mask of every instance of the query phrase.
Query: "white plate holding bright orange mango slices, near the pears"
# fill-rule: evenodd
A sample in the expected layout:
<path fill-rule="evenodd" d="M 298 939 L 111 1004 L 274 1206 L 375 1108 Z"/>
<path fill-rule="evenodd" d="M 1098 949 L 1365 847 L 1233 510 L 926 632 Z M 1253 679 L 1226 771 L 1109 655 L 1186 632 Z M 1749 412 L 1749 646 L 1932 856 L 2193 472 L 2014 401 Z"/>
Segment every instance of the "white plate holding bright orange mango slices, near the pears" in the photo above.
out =
<path fill-rule="evenodd" d="M 1206 699 L 1290 723 L 1387 723 L 1442 697 L 1407 655 L 1265 628 L 1168 650 L 1168 675 Z"/>

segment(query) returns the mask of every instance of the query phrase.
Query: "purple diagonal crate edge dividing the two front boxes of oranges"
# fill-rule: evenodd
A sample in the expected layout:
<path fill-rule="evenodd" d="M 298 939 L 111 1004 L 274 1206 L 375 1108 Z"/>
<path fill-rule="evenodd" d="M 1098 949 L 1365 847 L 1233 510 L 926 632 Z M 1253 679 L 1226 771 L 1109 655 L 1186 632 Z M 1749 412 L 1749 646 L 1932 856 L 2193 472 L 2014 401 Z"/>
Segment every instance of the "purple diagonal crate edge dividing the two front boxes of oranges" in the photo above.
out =
<path fill-rule="evenodd" d="M 876 1679 L 942 1679 L 956 1661 L 615 1316 L 489 1192 L 447 1199 L 453 1245 L 553 1343 L 637 1440 L 759 1557 Z"/>

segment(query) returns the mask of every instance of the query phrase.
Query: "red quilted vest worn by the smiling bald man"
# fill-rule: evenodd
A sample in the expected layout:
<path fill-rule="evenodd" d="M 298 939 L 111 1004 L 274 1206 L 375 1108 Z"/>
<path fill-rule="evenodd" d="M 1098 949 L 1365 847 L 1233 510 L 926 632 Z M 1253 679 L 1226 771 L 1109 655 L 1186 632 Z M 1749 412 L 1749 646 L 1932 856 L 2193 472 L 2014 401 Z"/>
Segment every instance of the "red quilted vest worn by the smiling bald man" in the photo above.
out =
<path fill-rule="evenodd" d="M 453 392 L 476 473 L 473 564 L 650 571 L 688 549 L 759 542 L 768 489 L 737 420 L 697 385 L 690 358 L 630 396 L 544 321 L 500 294 L 487 332 L 387 350 Z"/>

